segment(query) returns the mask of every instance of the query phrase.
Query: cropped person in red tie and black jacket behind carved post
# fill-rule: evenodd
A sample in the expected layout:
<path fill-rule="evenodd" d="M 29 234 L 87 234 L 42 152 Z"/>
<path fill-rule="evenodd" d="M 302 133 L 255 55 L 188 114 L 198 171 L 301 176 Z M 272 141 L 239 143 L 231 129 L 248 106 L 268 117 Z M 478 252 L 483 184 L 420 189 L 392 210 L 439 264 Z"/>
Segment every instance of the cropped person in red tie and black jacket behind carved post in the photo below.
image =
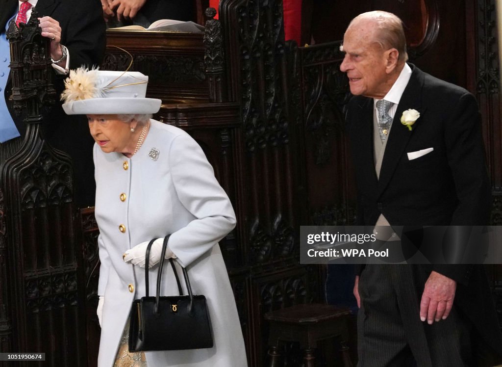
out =
<path fill-rule="evenodd" d="M 99 0 L 4 0 L 0 2 L 0 161 L 21 146 L 26 126 L 12 112 L 9 97 L 10 48 L 6 31 L 10 20 L 27 23 L 36 8 L 42 37 L 51 40 L 54 85 L 58 95 L 70 68 L 99 65 L 104 56 L 105 24 Z M 76 123 L 75 120 L 81 120 Z M 68 117 L 60 103 L 44 114 L 44 134 L 52 146 L 73 159 L 75 203 L 78 207 L 94 204 L 95 187 L 92 164 L 93 140 L 86 131 L 86 119 Z"/>

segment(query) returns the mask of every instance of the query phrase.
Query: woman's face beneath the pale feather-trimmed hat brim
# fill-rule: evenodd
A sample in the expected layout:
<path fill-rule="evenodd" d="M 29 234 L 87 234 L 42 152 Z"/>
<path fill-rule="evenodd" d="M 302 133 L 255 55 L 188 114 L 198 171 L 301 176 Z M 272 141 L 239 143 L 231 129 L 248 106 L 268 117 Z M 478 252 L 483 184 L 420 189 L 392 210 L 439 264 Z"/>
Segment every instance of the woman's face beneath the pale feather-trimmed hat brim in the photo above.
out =
<path fill-rule="evenodd" d="M 133 133 L 137 122 L 123 122 L 117 115 L 87 115 L 89 131 L 105 153 L 131 153 L 134 151 Z"/>

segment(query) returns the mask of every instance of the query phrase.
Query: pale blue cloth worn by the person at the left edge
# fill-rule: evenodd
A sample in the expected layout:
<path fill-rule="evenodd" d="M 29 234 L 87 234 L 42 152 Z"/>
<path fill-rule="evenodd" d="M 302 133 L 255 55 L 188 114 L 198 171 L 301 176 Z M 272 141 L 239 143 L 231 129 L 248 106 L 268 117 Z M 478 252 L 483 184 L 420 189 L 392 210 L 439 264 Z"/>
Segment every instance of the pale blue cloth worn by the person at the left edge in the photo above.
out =
<path fill-rule="evenodd" d="M 14 18 L 14 16 L 12 18 Z M 11 20 L 7 22 L 6 32 L 0 35 L 0 142 L 2 143 L 20 136 L 16 124 L 11 117 L 11 113 L 7 108 L 7 102 L 4 97 L 5 87 L 9 79 L 9 73 L 11 72 L 9 69 L 11 55 L 9 41 L 7 40 L 7 29 L 9 28 L 10 22 Z"/>

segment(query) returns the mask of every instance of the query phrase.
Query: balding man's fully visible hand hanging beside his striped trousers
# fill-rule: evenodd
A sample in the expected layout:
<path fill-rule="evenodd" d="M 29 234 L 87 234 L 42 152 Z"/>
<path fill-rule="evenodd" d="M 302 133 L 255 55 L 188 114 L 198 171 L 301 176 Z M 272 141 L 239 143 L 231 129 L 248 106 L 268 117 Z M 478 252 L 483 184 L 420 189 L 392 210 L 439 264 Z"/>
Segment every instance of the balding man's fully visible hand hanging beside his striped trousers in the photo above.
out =
<path fill-rule="evenodd" d="M 434 321 L 446 319 L 453 307 L 457 283 L 444 275 L 432 271 L 425 282 L 420 301 L 420 320 L 430 325 Z"/>

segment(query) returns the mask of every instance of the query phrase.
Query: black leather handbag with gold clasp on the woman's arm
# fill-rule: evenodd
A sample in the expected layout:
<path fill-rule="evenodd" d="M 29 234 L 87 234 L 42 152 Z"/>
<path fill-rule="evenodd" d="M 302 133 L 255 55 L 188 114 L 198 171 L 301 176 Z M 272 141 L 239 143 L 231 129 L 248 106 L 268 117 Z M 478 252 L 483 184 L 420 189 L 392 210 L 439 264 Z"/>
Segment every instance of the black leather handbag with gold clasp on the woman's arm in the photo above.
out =
<path fill-rule="evenodd" d="M 169 235 L 164 238 L 162 256 L 157 274 L 157 295 L 148 295 L 148 260 L 150 248 L 155 239 L 147 247 L 145 264 L 146 296 L 135 300 L 131 308 L 129 326 L 129 351 L 179 350 L 211 348 L 213 337 L 211 321 L 207 311 L 206 298 L 193 295 L 184 267 L 188 296 L 183 295 L 180 280 L 173 259 L 169 259 L 173 267 L 179 296 L 160 296 L 162 268 Z"/>

